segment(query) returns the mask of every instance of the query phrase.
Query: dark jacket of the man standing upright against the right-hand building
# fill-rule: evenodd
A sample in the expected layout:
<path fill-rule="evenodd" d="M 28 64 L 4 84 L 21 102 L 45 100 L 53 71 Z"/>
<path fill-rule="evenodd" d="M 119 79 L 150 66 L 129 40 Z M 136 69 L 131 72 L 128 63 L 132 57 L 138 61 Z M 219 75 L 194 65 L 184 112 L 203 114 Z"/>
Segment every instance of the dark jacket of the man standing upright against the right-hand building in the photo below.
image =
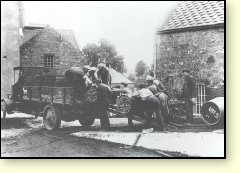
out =
<path fill-rule="evenodd" d="M 189 100 L 196 96 L 197 96 L 197 93 L 196 93 L 195 79 L 193 78 L 193 76 L 187 75 L 184 79 L 184 84 L 183 84 L 183 97 L 186 100 Z"/>

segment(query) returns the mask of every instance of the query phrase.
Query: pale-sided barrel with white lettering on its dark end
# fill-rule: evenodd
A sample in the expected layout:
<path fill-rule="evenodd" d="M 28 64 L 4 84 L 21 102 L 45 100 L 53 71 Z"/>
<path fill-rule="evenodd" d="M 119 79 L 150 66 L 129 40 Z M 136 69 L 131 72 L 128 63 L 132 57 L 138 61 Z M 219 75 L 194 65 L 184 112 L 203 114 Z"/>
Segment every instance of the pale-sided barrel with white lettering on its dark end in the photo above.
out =
<path fill-rule="evenodd" d="M 224 120 L 224 97 L 207 101 L 201 108 L 203 121 L 210 126 L 222 126 Z"/>

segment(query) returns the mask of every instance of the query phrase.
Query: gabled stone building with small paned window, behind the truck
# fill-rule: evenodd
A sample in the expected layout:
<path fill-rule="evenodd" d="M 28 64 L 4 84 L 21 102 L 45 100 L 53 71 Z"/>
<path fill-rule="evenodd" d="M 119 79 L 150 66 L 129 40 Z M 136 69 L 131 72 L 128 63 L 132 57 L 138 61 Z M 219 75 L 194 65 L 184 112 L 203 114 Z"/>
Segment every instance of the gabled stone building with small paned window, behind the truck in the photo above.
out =
<path fill-rule="evenodd" d="M 83 57 L 73 31 L 48 25 L 23 28 L 20 45 L 21 67 L 47 67 L 63 74 L 73 66 L 83 66 Z"/>

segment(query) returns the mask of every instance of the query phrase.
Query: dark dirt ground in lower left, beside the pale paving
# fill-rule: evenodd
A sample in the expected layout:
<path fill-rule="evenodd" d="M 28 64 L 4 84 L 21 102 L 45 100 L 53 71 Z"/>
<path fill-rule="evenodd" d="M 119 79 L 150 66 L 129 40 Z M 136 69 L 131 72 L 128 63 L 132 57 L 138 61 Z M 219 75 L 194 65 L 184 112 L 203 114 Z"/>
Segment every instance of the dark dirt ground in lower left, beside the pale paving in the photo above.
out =
<path fill-rule="evenodd" d="M 90 130 L 94 131 L 100 128 L 98 122 L 95 124 Z M 121 130 L 121 126 L 116 128 L 114 130 Z M 49 132 L 43 127 L 41 118 L 34 119 L 33 116 L 25 114 L 11 115 L 5 121 L 1 120 L 1 157 L 163 156 L 144 148 L 126 148 L 120 144 L 70 135 L 81 130 L 84 129 L 74 122 L 64 123 L 61 129 Z"/>

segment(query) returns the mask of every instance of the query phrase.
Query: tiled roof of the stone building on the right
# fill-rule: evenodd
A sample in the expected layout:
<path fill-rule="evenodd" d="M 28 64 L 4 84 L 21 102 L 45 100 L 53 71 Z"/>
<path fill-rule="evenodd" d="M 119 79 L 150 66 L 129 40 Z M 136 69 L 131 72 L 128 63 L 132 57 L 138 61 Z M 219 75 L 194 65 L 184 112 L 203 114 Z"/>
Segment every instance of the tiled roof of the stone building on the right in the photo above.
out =
<path fill-rule="evenodd" d="M 224 24 L 224 1 L 182 1 L 168 16 L 160 32 Z"/>

